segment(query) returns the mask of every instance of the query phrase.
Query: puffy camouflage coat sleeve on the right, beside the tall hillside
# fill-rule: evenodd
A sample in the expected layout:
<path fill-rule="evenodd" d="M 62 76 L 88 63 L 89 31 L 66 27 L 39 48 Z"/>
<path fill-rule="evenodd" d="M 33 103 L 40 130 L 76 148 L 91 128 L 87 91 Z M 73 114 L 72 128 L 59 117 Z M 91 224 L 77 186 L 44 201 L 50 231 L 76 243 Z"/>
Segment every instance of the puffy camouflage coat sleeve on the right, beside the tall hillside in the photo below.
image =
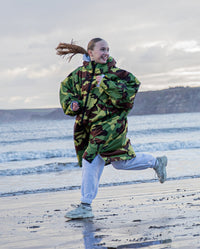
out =
<path fill-rule="evenodd" d="M 139 86 L 139 80 L 124 70 L 119 70 L 119 73 L 116 74 L 106 75 L 100 83 L 100 87 L 110 97 L 112 104 L 117 108 L 126 110 L 133 107 Z"/>

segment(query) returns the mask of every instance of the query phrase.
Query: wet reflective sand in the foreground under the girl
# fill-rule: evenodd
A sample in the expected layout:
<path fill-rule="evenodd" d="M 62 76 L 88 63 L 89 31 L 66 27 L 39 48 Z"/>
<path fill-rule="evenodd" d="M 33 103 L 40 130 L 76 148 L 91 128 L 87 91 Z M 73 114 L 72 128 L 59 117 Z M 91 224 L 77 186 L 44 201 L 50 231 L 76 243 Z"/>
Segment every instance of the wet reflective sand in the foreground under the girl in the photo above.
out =
<path fill-rule="evenodd" d="M 95 217 L 66 221 L 80 190 L 0 199 L 0 248 L 200 248 L 200 180 L 102 187 Z"/>

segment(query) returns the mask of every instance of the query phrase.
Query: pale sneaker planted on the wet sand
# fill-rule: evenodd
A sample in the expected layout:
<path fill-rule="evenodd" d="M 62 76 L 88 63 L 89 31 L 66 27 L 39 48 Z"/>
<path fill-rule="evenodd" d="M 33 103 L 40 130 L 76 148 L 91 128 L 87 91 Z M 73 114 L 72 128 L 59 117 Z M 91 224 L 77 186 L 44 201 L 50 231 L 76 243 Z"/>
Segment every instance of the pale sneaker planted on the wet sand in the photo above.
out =
<path fill-rule="evenodd" d="M 94 217 L 92 208 L 90 205 L 79 204 L 71 211 L 65 214 L 65 218 L 68 219 L 86 219 Z"/>

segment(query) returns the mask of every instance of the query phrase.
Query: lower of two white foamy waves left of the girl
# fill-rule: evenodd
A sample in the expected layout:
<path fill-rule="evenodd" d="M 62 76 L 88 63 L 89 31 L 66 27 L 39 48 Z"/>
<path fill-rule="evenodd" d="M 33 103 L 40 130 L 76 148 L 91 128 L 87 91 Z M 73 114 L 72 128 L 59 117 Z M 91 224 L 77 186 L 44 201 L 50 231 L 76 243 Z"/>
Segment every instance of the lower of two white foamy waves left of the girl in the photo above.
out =
<path fill-rule="evenodd" d="M 52 172 L 61 172 L 78 167 L 78 163 L 49 163 L 41 166 L 22 168 L 22 169 L 5 169 L 0 170 L 0 176 L 18 176 L 32 174 L 46 174 Z"/>

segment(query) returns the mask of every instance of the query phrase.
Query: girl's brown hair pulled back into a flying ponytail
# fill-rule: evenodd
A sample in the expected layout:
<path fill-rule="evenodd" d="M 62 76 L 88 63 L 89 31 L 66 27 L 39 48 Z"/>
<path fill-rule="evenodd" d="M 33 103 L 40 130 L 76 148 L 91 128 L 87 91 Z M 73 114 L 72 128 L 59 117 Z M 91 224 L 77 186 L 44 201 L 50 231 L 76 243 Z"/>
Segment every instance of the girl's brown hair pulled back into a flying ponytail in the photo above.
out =
<path fill-rule="evenodd" d="M 59 43 L 59 45 L 57 46 L 56 50 L 57 50 L 57 54 L 61 55 L 61 56 L 66 56 L 66 55 L 70 55 L 68 57 L 69 62 L 71 61 L 72 57 L 76 54 L 86 54 L 88 55 L 88 50 L 93 50 L 94 46 L 97 42 L 102 41 L 103 39 L 101 38 L 94 38 L 92 39 L 87 46 L 87 51 L 81 47 L 78 46 L 74 43 L 74 41 L 72 40 L 71 43 Z"/>

